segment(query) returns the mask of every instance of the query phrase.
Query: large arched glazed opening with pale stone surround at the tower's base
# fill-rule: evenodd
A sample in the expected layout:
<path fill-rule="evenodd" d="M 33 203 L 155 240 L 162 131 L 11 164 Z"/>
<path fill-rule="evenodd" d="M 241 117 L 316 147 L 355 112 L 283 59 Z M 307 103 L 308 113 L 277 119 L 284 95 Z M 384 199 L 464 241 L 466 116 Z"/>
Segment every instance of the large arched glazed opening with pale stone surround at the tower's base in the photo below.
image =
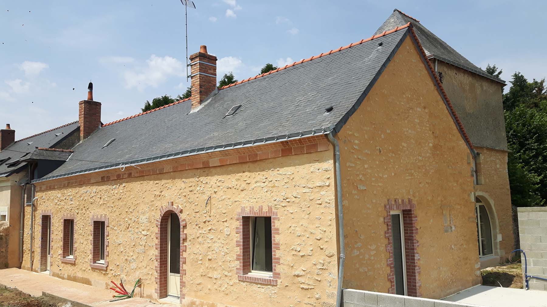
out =
<path fill-rule="evenodd" d="M 502 253 L 499 250 L 498 218 L 492 199 L 481 192 L 475 195 L 475 221 L 481 268 L 499 264 Z"/>

